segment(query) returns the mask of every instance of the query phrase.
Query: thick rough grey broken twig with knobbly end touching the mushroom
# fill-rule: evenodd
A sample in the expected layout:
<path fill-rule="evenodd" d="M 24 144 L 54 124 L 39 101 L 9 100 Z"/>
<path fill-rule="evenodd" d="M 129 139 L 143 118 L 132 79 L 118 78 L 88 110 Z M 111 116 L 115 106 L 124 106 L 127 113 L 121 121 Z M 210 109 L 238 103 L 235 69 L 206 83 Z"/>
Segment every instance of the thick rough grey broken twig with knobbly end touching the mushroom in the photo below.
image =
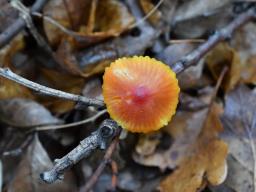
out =
<path fill-rule="evenodd" d="M 113 120 L 106 119 L 100 125 L 97 131 L 93 132 L 89 137 L 80 141 L 80 144 L 61 159 L 56 159 L 53 168 L 47 172 L 41 173 L 40 177 L 46 183 L 53 183 L 58 179 L 64 178 L 64 172 L 75 165 L 82 158 L 88 157 L 95 149 L 106 149 L 107 143 L 114 137 L 118 136 L 120 128 Z M 110 147 L 114 148 L 115 144 Z M 114 146 L 113 146 L 114 145 Z M 107 157 L 111 156 L 113 150 L 107 150 Z"/>

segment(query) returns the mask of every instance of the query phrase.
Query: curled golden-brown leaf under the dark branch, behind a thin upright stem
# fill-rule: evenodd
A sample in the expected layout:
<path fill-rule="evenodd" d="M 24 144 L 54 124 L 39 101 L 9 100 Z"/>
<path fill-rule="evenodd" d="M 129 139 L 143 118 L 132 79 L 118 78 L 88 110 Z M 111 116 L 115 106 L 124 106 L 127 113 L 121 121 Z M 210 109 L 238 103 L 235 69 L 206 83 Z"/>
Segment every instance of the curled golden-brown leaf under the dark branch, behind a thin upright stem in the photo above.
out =
<path fill-rule="evenodd" d="M 225 92 L 232 90 L 238 84 L 242 69 L 240 57 L 238 52 L 226 43 L 219 44 L 209 52 L 206 63 L 216 80 L 225 66 L 229 68 L 222 83 Z"/>

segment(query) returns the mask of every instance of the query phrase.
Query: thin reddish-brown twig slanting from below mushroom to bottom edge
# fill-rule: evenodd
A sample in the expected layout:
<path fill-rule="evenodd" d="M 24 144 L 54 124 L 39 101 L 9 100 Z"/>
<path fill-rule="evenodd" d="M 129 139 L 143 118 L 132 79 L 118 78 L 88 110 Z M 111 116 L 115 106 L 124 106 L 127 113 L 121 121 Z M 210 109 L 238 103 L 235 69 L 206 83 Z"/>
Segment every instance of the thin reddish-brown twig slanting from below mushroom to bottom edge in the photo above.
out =
<path fill-rule="evenodd" d="M 112 156 L 112 154 L 113 154 L 113 152 L 114 152 L 118 142 L 119 142 L 119 137 L 116 136 L 116 138 L 112 141 L 112 143 L 108 147 L 108 149 L 107 149 L 107 151 L 106 151 L 106 153 L 104 155 L 103 161 L 100 163 L 100 165 L 98 166 L 96 171 L 93 173 L 93 175 L 91 176 L 90 180 L 86 183 L 86 185 L 80 191 L 89 192 L 92 189 L 92 187 L 97 182 L 99 176 L 101 175 L 101 173 L 105 169 L 106 165 L 108 163 L 110 163 L 111 156 Z"/>

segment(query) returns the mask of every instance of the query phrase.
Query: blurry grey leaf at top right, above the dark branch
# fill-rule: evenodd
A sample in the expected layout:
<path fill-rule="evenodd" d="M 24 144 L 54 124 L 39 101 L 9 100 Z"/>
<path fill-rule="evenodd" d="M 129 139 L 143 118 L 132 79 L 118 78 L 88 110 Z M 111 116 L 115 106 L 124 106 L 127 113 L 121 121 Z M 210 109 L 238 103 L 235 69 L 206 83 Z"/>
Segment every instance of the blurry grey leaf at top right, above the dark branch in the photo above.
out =
<path fill-rule="evenodd" d="M 233 19 L 231 0 L 184 1 L 175 11 L 173 33 L 194 39 L 226 26 Z M 196 27 L 195 27 L 196 26 Z"/>

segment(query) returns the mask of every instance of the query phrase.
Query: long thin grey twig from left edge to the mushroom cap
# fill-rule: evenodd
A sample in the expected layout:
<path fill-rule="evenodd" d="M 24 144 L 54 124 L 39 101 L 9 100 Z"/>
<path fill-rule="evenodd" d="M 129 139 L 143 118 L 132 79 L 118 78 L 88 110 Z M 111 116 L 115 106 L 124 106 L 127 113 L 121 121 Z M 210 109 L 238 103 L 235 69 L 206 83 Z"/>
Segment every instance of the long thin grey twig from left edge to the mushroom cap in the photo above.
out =
<path fill-rule="evenodd" d="M 44 95 L 49 95 L 49 96 L 53 96 L 53 97 L 76 101 L 76 102 L 80 102 L 80 103 L 83 103 L 86 105 L 93 105 L 96 107 L 104 107 L 103 101 L 87 98 L 87 97 L 84 97 L 81 95 L 74 95 L 71 93 L 66 93 L 64 91 L 60 91 L 57 89 L 52 89 L 52 88 L 40 85 L 38 83 L 35 83 L 33 81 L 30 81 L 28 79 L 25 79 L 15 73 L 13 73 L 8 68 L 0 68 L 0 76 L 3 76 L 9 80 L 15 81 L 16 83 L 19 83 L 25 87 L 28 87 L 28 88 L 30 88 L 38 93 L 44 94 Z"/>

